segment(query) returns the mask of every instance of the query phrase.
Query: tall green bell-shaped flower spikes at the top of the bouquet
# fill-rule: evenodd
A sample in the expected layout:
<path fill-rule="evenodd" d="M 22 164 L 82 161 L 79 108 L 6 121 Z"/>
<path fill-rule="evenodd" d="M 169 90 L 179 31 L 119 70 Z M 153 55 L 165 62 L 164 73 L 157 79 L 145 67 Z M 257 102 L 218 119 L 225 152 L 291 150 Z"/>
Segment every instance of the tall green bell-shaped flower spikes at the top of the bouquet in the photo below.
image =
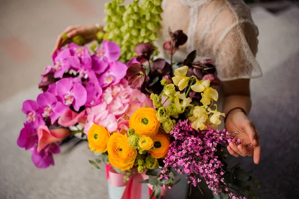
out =
<path fill-rule="evenodd" d="M 126 7 L 124 0 L 113 0 L 105 4 L 107 35 L 99 35 L 118 43 L 121 47 L 120 61 L 129 61 L 137 56 L 135 46 L 142 42 L 153 42 L 157 39 L 156 31 L 161 28 L 162 0 L 134 0 Z M 101 39 L 98 39 L 101 41 Z"/>

